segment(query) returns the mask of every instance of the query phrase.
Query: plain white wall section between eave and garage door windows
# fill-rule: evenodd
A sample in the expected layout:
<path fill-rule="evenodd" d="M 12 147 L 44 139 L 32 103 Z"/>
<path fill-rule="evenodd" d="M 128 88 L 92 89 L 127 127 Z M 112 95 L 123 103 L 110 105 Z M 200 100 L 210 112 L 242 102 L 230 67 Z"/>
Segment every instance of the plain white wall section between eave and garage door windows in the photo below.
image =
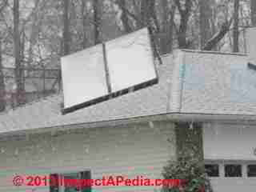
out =
<path fill-rule="evenodd" d="M 206 123 L 203 129 L 205 159 L 256 161 L 256 125 Z"/>

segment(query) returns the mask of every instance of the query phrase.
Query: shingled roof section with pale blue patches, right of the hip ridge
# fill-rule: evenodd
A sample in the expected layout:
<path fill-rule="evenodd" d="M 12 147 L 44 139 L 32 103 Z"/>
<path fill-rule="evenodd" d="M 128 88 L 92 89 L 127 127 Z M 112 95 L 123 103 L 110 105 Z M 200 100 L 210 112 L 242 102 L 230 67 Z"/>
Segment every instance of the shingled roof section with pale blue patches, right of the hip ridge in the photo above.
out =
<path fill-rule="evenodd" d="M 256 70 L 234 54 L 186 52 L 183 113 L 256 114 Z"/>

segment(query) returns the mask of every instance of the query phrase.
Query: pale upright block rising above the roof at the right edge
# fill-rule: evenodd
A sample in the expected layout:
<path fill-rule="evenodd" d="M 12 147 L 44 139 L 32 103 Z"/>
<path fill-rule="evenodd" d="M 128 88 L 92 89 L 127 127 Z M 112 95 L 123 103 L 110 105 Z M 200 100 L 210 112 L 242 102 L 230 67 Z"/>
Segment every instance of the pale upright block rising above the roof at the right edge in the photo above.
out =
<path fill-rule="evenodd" d="M 256 65 L 256 27 L 250 27 L 246 32 L 246 46 L 249 62 Z"/>

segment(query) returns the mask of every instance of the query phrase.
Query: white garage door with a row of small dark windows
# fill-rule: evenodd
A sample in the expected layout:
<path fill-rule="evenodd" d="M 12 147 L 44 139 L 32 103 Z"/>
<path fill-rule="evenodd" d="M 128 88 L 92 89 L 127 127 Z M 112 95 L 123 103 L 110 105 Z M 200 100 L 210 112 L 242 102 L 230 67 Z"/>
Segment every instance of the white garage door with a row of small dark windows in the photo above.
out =
<path fill-rule="evenodd" d="M 205 162 L 214 192 L 255 192 L 256 161 Z"/>

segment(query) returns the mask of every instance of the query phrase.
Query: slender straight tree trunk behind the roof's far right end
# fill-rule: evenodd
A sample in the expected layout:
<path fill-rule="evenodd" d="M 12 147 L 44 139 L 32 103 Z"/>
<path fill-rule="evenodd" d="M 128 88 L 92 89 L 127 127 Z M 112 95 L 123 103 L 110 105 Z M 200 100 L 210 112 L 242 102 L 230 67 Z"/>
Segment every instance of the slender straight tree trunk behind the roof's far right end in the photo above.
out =
<path fill-rule="evenodd" d="M 239 52 L 239 0 L 234 0 L 234 31 L 233 31 L 233 52 Z"/>

